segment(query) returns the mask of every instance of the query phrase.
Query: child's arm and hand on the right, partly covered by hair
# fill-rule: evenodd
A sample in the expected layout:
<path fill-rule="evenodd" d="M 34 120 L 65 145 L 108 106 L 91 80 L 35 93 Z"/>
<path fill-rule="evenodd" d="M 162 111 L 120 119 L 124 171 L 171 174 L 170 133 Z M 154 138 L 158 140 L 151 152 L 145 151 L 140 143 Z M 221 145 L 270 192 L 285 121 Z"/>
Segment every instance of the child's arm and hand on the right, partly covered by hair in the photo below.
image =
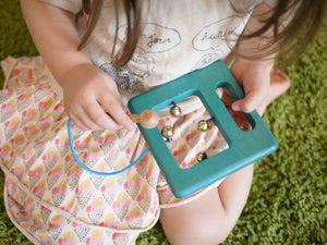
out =
<path fill-rule="evenodd" d="M 265 15 L 271 14 L 271 7 L 265 2 L 258 4 L 246 24 L 243 34 L 252 34 L 263 26 L 259 20 L 265 19 Z M 287 24 L 287 20 L 283 24 Z M 265 37 L 272 37 L 272 28 L 264 34 Z M 239 42 L 238 49 L 240 53 L 256 54 L 261 52 L 259 48 L 270 41 L 271 38 L 254 37 L 244 39 Z M 275 64 L 277 53 L 270 57 L 264 57 L 262 60 L 246 60 L 242 57 L 235 58 L 235 62 L 231 72 L 237 81 L 243 86 L 245 98 L 235 101 L 232 105 L 234 111 L 251 112 L 257 109 L 264 102 L 268 94 L 270 85 L 270 71 Z"/>

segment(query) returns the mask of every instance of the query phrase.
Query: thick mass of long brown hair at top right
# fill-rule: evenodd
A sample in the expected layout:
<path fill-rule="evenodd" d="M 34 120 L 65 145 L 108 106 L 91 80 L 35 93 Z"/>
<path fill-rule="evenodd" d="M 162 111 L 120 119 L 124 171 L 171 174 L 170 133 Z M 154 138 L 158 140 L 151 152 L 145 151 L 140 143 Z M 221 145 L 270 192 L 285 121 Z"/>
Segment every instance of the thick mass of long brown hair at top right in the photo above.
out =
<path fill-rule="evenodd" d="M 271 12 L 263 14 L 261 20 L 263 25 L 259 29 L 240 36 L 241 40 L 265 36 L 265 33 L 272 28 L 274 35 L 266 45 L 259 47 L 257 53 L 242 53 L 241 50 L 235 52 L 247 59 L 265 59 L 270 54 L 279 53 L 278 64 L 280 68 L 286 68 L 312 41 L 323 22 L 324 13 L 326 13 L 326 0 L 280 0 Z M 281 23 L 286 19 L 289 19 L 288 24 L 282 26 Z"/>

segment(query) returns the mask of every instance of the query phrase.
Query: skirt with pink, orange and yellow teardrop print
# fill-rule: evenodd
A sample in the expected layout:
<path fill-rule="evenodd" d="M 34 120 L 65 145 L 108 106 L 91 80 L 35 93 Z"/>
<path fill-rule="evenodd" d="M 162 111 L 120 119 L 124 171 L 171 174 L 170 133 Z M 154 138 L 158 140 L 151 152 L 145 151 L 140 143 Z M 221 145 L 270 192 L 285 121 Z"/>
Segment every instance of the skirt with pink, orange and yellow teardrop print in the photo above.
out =
<path fill-rule="evenodd" d="M 44 60 L 8 58 L 2 62 L 0 91 L 0 167 L 5 174 L 4 201 L 12 222 L 35 244 L 134 244 L 150 229 L 160 208 L 185 204 L 175 198 L 152 154 L 113 176 L 82 169 L 69 147 L 68 117 L 53 89 Z M 169 148 L 180 168 L 196 163 L 194 156 L 227 149 L 217 128 L 206 133 L 196 123 L 208 118 L 204 108 L 179 119 L 162 118 L 178 137 Z M 146 143 L 132 131 L 83 132 L 72 125 L 76 155 L 96 171 L 118 171 L 137 159 Z"/>

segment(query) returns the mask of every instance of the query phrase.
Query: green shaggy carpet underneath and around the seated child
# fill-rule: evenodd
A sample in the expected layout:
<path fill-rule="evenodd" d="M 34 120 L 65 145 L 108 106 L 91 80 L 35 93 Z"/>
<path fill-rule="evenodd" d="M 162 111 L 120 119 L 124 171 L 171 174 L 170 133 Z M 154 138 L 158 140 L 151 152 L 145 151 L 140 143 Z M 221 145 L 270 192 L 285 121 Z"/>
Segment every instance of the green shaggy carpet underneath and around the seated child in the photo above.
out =
<path fill-rule="evenodd" d="M 286 72 L 291 88 L 265 112 L 279 149 L 255 166 L 252 191 L 227 244 L 327 244 L 327 16 Z M 0 59 L 37 56 L 19 1 L 0 1 Z M 0 74 L 1 83 L 3 74 Z M 31 244 L 11 223 L 0 173 L 0 244 Z M 217 231 L 218 233 L 219 231 Z M 158 223 L 137 245 L 169 244 Z"/>

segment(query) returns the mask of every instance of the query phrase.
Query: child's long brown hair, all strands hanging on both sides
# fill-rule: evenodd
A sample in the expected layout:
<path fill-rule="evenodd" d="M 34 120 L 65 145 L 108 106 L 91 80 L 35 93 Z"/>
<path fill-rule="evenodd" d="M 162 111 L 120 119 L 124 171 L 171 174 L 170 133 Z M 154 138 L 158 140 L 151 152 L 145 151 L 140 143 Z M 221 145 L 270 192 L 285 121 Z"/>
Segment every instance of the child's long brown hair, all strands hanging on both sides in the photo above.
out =
<path fill-rule="evenodd" d="M 78 16 L 86 17 L 86 30 L 82 37 L 78 50 L 83 49 L 89 39 L 93 29 L 99 19 L 99 14 L 104 4 L 104 0 L 83 0 L 82 10 Z M 138 37 L 141 35 L 141 4 L 137 0 L 114 0 L 116 12 L 118 12 L 119 4 L 123 4 L 125 16 L 128 21 L 126 40 L 122 52 L 116 56 L 114 65 L 123 66 L 132 58 Z M 237 8 L 234 8 L 237 9 Z M 264 34 L 269 29 L 274 29 L 274 37 L 268 41 L 268 45 L 261 48 L 261 53 L 257 56 L 249 53 L 240 53 L 247 59 L 264 59 L 271 53 L 282 53 L 282 66 L 294 61 L 294 59 L 305 49 L 308 42 L 315 36 L 318 26 L 323 20 L 326 10 L 326 0 L 279 0 L 271 13 L 264 14 L 261 20 L 263 22 L 262 28 L 250 35 L 240 36 L 240 38 L 252 38 L 256 36 L 265 36 Z M 289 13 L 293 11 L 293 15 L 287 26 L 280 30 L 282 20 L 289 17 Z M 119 28 L 119 16 L 116 16 L 116 37 L 112 47 L 117 44 L 117 35 Z M 282 50 L 280 52 L 280 50 Z M 237 51 L 238 52 L 238 51 Z"/>

